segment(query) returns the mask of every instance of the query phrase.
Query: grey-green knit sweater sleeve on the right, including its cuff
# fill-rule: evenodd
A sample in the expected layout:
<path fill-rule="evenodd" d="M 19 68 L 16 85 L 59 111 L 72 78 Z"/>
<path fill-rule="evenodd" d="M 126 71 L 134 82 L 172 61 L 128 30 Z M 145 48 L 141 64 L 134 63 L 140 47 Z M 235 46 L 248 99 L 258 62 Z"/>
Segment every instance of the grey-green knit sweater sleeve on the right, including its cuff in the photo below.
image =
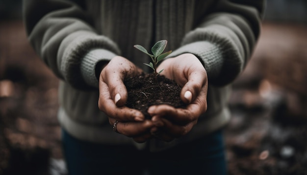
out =
<path fill-rule="evenodd" d="M 204 64 L 209 83 L 224 86 L 244 69 L 260 33 L 265 0 L 219 0 L 198 26 L 187 33 L 182 53 L 196 55 Z"/>

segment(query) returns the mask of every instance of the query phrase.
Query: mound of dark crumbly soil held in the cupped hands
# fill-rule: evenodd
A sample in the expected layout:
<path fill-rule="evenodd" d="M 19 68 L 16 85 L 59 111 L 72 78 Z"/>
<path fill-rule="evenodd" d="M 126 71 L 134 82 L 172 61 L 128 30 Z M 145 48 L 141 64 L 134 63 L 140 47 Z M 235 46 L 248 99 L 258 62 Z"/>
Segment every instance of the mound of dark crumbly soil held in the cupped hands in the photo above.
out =
<path fill-rule="evenodd" d="M 175 108 L 185 108 L 180 99 L 181 87 L 163 75 L 141 74 L 129 77 L 124 81 L 128 91 L 126 106 L 138 109 L 149 118 L 147 109 L 153 105 L 166 104 Z"/>

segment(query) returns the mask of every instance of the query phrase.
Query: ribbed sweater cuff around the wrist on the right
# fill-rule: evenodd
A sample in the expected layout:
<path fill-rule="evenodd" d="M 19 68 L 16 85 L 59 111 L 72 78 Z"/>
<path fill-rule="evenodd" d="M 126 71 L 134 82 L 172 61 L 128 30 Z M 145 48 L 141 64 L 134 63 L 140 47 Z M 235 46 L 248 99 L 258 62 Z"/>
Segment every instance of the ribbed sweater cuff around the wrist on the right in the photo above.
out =
<path fill-rule="evenodd" d="M 223 55 L 216 45 L 205 41 L 186 44 L 173 51 L 168 58 L 176 57 L 183 53 L 194 54 L 200 59 L 203 66 L 205 66 L 208 80 L 215 79 L 220 74 L 223 66 Z"/>

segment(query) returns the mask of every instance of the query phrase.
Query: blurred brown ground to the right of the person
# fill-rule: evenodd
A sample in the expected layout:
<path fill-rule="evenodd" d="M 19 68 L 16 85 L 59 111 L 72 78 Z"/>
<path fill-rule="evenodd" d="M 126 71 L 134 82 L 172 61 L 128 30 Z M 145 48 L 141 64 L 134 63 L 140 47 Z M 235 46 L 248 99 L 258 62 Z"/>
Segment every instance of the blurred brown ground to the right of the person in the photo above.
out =
<path fill-rule="evenodd" d="M 234 82 L 230 175 L 307 175 L 307 25 L 264 22 Z"/>

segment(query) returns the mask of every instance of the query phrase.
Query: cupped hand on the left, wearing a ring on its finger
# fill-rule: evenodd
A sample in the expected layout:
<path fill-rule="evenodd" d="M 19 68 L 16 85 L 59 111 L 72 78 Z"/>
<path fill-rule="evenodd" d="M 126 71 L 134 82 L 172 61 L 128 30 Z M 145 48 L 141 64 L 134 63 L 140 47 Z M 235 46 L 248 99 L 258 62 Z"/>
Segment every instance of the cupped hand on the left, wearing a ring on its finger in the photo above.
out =
<path fill-rule="evenodd" d="M 141 73 L 141 69 L 124 57 L 116 56 L 102 69 L 99 78 L 99 109 L 109 117 L 113 126 L 116 120 L 117 131 L 136 142 L 145 142 L 151 138 L 151 120 L 145 120 L 141 111 L 125 107 L 128 98 L 127 89 L 123 83 L 125 77 Z"/>

